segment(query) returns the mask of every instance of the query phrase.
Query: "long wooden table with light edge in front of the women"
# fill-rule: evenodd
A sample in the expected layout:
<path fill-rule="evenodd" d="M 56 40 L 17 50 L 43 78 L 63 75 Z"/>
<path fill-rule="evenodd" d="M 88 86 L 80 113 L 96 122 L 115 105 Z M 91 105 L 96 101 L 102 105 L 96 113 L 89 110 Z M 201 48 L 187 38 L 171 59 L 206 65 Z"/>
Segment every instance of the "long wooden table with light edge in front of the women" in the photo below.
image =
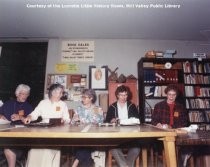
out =
<path fill-rule="evenodd" d="M 14 127 L 0 125 L 0 146 L 117 146 L 133 140 L 161 139 L 166 164 L 176 167 L 176 132 L 151 125 Z"/>

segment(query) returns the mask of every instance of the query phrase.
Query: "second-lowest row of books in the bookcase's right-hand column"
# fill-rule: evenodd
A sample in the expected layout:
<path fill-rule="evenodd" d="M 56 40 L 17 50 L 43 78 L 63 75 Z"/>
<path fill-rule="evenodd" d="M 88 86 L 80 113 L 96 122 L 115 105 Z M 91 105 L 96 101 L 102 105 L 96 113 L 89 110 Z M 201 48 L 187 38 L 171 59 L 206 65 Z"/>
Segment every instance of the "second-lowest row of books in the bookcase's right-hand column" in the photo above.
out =
<path fill-rule="evenodd" d="M 210 99 L 186 99 L 187 109 L 206 109 L 210 108 Z"/>

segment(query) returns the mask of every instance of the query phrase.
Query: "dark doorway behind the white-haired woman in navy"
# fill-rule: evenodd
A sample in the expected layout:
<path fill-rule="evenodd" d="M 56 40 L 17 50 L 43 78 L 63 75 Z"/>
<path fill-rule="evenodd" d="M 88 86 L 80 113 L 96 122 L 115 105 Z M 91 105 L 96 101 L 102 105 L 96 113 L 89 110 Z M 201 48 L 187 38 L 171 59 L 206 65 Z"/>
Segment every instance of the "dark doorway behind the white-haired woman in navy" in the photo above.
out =
<path fill-rule="evenodd" d="M 13 98 L 20 83 L 31 87 L 28 101 L 35 107 L 44 97 L 47 42 L 1 42 L 0 100 Z"/>

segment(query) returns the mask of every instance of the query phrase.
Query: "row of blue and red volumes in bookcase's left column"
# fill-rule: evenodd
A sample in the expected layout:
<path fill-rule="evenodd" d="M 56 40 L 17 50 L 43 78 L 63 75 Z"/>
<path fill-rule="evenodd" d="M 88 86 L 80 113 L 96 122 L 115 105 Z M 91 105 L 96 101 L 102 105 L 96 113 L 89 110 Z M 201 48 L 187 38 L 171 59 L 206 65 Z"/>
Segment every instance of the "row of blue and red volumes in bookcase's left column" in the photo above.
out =
<path fill-rule="evenodd" d="M 177 70 L 144 70 L 144 83 L 176 83 Z"/>

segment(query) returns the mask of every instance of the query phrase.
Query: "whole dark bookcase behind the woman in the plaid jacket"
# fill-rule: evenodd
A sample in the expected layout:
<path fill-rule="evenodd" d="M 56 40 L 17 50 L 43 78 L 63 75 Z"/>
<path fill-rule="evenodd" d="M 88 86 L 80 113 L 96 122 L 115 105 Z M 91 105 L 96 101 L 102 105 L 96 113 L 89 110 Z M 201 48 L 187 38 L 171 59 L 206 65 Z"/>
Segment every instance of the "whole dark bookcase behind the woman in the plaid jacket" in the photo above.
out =
<path fill-rule="evenodd" d="M 154 105 L 165 99 L 164 89 L 173 83 L 190 123 L 210 123 L 210 59 L 141 58 L 138 82 L 141 122 L 151 122 Z"/>

